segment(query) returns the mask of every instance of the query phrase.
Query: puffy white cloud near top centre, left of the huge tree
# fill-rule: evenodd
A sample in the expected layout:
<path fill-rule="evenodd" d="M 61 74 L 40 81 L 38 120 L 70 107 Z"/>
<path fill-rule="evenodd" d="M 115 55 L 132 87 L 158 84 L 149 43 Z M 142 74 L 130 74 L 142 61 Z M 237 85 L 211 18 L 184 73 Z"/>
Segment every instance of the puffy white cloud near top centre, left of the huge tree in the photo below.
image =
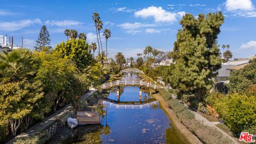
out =
<path fill-rule="evenodd" d="M 161 6 L 150 6 L 134 13 L 135 17 L 154 18 L 155 22 L 174 22 L 179 13 L 184 12 L 169 12 L 165 11 Z"/>

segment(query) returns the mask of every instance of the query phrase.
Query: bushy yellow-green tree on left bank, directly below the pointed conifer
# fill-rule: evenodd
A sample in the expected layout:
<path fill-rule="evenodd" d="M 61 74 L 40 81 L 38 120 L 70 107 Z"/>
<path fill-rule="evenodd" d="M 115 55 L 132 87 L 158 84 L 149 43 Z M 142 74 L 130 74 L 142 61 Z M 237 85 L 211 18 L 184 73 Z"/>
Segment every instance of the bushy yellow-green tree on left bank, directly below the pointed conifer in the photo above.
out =
<path fill-rule="evenodd" d="M 67 58 L 61 58 L 61 54 L 58 52 L 51 54 L 42 52 L 37 57 L 41 61 L 41 65 L 37 71 L 36 79 L 43 83 L 45 93 L 44 103 L 47 103 L 42 108 L 49 110 L 53 106 L 53 110 L 56 111 L 61 100 L 69 103 L 72 97 L 76 97 L 74 87 L 79 87 L 77 82 L 79 71 L 73 61 Z M 70 89 L 70 87 L 74 89 Z"/>

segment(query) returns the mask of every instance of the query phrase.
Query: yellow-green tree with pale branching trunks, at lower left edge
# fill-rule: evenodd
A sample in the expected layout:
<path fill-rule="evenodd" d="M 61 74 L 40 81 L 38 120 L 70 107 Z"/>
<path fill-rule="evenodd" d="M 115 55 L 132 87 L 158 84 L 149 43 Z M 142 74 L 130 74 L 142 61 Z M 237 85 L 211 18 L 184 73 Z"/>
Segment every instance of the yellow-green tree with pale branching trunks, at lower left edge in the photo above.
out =
<path fill-rule="evenodd" d="M 33 111 L 33 107 L 43 97 L 40 82 L 22 79 L 18 82 L 0 84 L 0 121 L 8 121 L 15 136 L 23 118 Z"/>

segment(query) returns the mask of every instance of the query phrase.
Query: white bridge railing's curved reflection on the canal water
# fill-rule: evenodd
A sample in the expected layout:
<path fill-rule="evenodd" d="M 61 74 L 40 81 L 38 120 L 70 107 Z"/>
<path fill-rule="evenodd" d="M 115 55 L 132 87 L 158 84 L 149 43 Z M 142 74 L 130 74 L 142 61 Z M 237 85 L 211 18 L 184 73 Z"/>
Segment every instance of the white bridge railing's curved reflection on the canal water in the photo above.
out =
<path fill-rule="evenodd" d="M 101 103 L 103 105 L 118 108 L 118 109 L 123 109 L 123 108 L 124 109 L 142 109 L 145 107 L 157 105 L 158 101 L 153 101 L 153 102 L 149 102 L 149 103 L 145 103 L 145 104 L 141 104 L 141 105 L 119 105 L 118 103 L 113 103 L 113 102 L 109 102 L 109 101 L 105 101 L 105 100 L 102 100 Z"/>

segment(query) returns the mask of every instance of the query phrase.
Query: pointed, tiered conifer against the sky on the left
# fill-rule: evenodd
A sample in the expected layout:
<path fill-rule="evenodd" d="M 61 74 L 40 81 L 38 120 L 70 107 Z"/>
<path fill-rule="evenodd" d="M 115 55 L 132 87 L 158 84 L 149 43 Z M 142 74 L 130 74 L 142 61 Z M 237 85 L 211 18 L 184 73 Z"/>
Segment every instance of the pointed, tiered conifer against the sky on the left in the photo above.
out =
<path fill-rule="evenodd" d="M 51 49 L 52 47 L 50 46 L 50 42 L 51 42 L 51 39 L 50 39 L 49 31 L 47 30 L 46 26 L 42 26 L 36 41 L 36 46 L 34 46 L 35 50 L 42 51 L 46 47 Z"/>

